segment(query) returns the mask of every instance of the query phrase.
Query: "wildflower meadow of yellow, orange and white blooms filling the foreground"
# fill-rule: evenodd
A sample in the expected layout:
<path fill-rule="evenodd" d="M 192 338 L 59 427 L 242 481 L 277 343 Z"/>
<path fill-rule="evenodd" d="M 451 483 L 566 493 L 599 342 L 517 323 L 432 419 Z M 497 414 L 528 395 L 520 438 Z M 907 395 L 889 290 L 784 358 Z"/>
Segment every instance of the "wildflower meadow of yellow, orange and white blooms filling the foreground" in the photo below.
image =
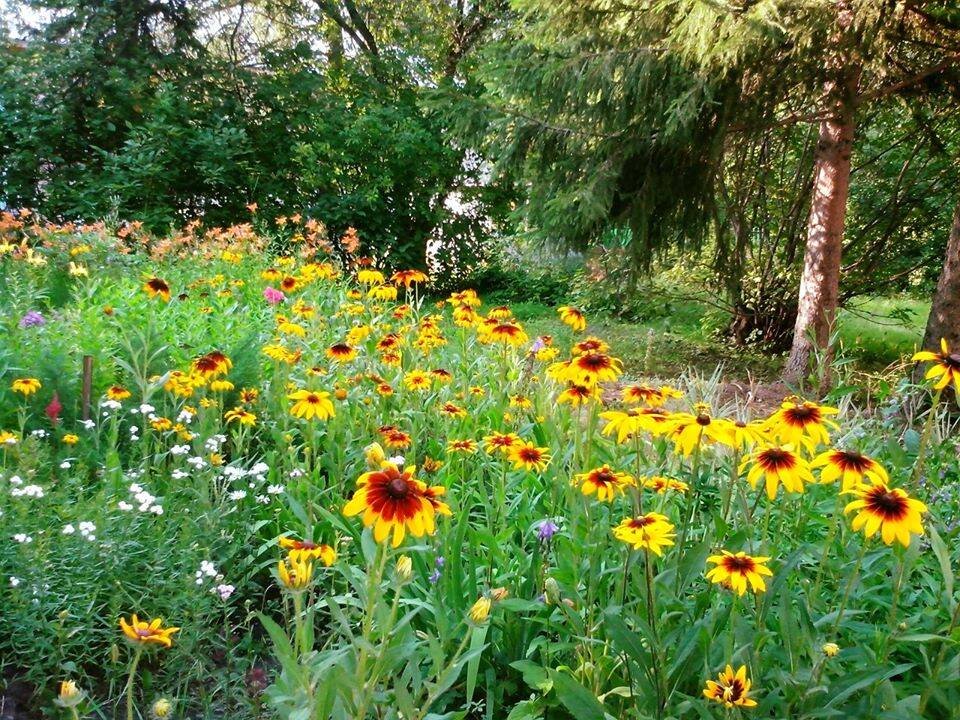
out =
<path fill-rule="evenodd" d="M 958 717 L 960 348 L 765 405 L 282 229 L 0 215 L 3 717 Z"/>

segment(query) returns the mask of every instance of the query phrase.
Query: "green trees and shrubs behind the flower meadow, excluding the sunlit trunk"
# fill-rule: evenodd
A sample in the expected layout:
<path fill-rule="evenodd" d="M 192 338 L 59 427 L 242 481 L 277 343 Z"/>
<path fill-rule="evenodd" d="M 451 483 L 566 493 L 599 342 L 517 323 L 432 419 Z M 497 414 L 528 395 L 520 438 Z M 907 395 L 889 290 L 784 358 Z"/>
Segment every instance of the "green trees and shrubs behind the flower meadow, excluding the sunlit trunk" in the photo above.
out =
<path fill-rule="evenodd" d="M 356 228 L 382 265 L 429 266 L 440 291 L 521 302 L 545 332 L 575 302 L 639 356 L 653 330 L 678 365 L 773 375 L 847 8 L 835 338 L 869 367 L 920 344 L 960 186 L 960 11 L 608 5 L 8 1 L 0 203 L 157 234 L 302 213 L 334 242 Z"/>

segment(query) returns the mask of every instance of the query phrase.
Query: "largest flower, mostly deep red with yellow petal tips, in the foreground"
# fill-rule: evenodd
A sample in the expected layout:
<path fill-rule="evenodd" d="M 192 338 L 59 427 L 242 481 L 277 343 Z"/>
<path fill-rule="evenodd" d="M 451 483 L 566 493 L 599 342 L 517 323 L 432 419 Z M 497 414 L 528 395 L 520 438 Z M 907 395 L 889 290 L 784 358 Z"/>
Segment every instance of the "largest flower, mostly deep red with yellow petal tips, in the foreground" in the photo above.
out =
<path fill-rule="evenodd" d="M 428 488 L 414 477 L 416 468 L 401 472 L 385 462 L 379 470 L 364 473 L 357 479 L 357 490 L 343 508 L 347 517 L 363 513 L 363 524 L 373 527 L 373 537 L 384 542 L 392 533 L 393 546 L 403 542 L 407 532 L 414 537 L 433 535 L 437 513 L 450 515 L 450 508 L 440 501 L 446 489 Z"/>

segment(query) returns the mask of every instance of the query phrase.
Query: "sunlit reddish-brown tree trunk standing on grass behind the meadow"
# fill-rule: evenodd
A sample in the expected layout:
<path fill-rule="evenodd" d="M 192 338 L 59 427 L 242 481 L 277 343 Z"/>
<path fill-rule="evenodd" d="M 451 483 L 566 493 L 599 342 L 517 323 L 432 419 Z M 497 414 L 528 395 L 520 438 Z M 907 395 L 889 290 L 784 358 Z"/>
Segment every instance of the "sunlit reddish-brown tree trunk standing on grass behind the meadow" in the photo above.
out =
<path fill-rule="evenodd" d="M 859 68 L 843 68 L 840 76 L 840 80 L 826 87 L 832 112 L 820 123 L 814 160 L 797 321 L 790 358 L 783 371 L 784 380 L 792 384 L 807 377 L 814 348 L 828 347 L 837 314 Z"/>

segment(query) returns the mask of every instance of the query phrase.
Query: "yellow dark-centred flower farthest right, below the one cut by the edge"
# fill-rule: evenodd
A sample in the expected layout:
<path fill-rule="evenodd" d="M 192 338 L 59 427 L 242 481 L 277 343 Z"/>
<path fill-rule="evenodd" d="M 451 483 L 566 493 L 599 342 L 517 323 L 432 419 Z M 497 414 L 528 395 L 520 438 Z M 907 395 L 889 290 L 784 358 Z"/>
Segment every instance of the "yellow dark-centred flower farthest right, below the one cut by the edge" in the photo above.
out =
<path fill-rule="evenodd" d="M 853 519 L 854 532 L 863 530 L 869 538 L 879 530 L 887 545 L 896 540 L 904 547 L 910 545 L 911 533 L 923 535 L 921 515 L 927 512 L 927 506 L 904 490 L 888 487 L 882 480 L 872 478 L 870 485 L 860 485 L 845 492 L 857 496 L 843 509 L 844 514 L 858 511 Z"/>

